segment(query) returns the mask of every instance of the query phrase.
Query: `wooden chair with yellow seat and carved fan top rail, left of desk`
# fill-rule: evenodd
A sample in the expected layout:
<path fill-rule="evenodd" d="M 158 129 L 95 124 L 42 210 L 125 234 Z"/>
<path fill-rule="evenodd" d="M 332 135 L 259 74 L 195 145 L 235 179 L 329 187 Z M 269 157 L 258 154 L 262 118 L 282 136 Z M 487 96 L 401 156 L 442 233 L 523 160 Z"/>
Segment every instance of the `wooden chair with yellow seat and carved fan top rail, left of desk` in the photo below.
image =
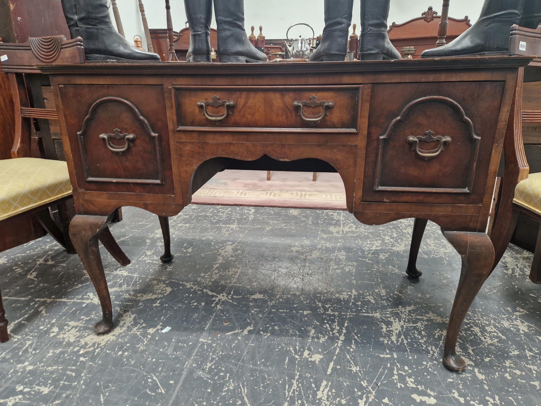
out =
<path fill-rule="evenodd" d="M 63 158 L 58 156 L 62 149 L 51 136 L 53 126 L 49 122 L 57 118 L 56 110 L 38 104 L 45 103 L 42 86 L 47 84 L 47 78 L 33 64 L 84 61 L 82 41 L 66 41 L 65 37 L 57 36 L 29 38 L 24 44 L 0 42 L 0 54 L 3 55 L 2 71 L 9 79 L 15 115 L 12 158 L 0 160 L 0 228 L 32 215 L 68 253 L 76 254 L 69 237 L 69 224 L 75 212 L 68 166 L 59 160 Z M 41 134 L 37 136 L 37 133 Z M 100 241 L 121 265 L 130 263 L 109 228 L 103 230 Z M 27 241 L 14 238 L 0 246 L 0 252 L 24 242 Z M 0 295 L 0 343 L 8 339 L 8 320 Z"/>

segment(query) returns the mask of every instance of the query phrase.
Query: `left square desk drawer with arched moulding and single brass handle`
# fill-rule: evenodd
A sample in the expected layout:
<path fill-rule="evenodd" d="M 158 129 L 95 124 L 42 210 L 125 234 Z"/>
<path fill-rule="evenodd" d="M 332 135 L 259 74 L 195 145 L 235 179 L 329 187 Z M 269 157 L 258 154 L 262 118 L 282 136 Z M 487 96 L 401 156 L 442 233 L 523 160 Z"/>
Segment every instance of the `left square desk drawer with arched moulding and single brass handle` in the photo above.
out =
<path fill-rule="evenodd" d="M 59 85 L 77 187 L 173 194 L 162 86 Z"/>

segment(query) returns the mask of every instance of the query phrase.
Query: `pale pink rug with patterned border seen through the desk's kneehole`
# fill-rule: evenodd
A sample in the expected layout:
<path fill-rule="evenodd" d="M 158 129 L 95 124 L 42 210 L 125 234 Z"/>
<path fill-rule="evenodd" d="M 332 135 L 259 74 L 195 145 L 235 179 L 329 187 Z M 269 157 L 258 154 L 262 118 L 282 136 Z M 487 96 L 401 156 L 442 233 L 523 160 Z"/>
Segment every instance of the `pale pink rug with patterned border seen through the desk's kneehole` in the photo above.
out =
<path fill-rule="evenodd" d="M 298 207 L 346 210 L 346 192 L 338 173 L 241 171 L 214 175 L 192 196 L 198 205 Z"/>

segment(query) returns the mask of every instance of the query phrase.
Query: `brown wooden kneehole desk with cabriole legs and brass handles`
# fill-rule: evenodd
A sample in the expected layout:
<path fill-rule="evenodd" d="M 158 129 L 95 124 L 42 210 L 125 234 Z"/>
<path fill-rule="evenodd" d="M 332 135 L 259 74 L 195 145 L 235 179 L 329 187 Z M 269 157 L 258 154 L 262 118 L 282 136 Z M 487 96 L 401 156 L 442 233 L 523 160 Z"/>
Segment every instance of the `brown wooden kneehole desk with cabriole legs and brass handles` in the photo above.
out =
<path fill-rule="evenodd" d="M 102 304 L 95 331 L 112 323 L 97 236 L 116 208 L 173 216 L 232 159 L 315 158 L 341 175 L 359 221 L 434 221 L 463 256 L 444 364 L 464 369 L 456 340 L 494 260 L 485 230 L 518 72 L 530 60 L 39 67 L 50 74 L 74 186 L 70 234 Z"/>

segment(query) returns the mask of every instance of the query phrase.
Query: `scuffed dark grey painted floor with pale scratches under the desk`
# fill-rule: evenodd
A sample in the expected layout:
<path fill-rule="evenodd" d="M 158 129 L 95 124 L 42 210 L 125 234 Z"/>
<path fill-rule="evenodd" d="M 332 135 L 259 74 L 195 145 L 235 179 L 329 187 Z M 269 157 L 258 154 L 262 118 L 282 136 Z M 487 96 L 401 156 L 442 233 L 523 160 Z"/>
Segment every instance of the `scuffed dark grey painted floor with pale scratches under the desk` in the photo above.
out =
<path fill-rule="evenodd" d="M 0 405 L 541 405 L 532 255 L 507 250 L 461 332 L 468 368 L 452 373 L 440 359 L 460 257 L 429 222 L 424 275 L 408 279 L 411 228 L 191 205 L 161 264 L 157 217 L 124 208 L 112 232 L 132 263 L 102 250 L 116 324 L 104 336 L 77 256 L 49 237 L 0 253 Z"/>

